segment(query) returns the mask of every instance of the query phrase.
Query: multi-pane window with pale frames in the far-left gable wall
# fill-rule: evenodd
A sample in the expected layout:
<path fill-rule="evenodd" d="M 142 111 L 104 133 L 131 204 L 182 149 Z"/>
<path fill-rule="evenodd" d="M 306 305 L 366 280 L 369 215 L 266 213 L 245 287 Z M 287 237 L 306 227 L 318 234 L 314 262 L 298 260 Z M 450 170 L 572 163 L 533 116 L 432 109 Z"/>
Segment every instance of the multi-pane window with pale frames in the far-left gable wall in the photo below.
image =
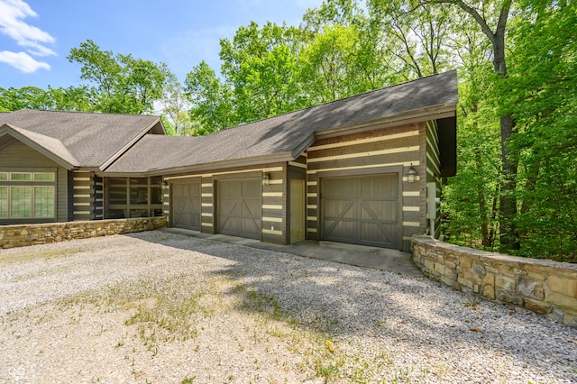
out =
<path fill-rule="evenodd" d="M 0 172 L 0 219 L 53 218 L 55 172 Z"/>

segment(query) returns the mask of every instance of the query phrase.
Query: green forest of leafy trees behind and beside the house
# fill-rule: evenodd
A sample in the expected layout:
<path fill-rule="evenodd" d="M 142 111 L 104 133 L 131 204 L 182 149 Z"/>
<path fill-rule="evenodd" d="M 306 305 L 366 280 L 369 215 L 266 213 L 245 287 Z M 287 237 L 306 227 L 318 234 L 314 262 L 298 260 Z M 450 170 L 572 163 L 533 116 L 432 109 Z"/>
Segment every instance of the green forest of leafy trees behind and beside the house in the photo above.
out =
<path fill-rule="evenodd" d="M 1 88 L 23 108 L 161 114 L 205 135 L 458 69 L 458 174 L 444 180 L 444 240 L 577 262 L 574 0 L 326 0 L 299 25 L 250 23 L 182 81 L 164 63 L 70 50 L 76 87 Z"/>

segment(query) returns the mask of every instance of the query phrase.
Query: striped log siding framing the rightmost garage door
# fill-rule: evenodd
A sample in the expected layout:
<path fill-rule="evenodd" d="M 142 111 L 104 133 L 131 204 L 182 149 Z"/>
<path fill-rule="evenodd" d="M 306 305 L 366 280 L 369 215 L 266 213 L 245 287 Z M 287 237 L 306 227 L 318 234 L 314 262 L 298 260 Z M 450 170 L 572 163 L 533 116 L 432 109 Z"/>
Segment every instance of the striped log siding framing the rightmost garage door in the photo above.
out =
<path fill-rule="evenodd" d="M 401 237 L 402 249 L 408 251 L 411 236 L 423 233 L 426 226 L 425 159 L 425 123 L 375 129 L 314 142 L 307 151 L 307 239 L 321 240 L 317 172 L 401 166 Z M 420 176 L 414 183 L 408 183 L 406 177 L 411 165 Z"/>

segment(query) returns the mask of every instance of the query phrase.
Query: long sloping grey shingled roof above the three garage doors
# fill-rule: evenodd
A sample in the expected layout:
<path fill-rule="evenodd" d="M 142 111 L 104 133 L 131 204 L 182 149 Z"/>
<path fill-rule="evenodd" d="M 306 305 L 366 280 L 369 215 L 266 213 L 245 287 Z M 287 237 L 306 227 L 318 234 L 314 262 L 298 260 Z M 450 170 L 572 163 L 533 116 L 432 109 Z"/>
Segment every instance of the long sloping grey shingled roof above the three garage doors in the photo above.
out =
<path fill-rule="evenodd" d="M 171 173 L 294 160 L 318 136 L 453 117 L 456 71 L 420 78 L 202 137 L 143 137 L 106 172 Z M 454 122 L 453 122 L 454 125 Z M 175 140 L 176 139 L 176 140 Z M 161 156 L 148 159 L 154 151 Z M 163 170 L 163 172 L 160 172 Z"/>

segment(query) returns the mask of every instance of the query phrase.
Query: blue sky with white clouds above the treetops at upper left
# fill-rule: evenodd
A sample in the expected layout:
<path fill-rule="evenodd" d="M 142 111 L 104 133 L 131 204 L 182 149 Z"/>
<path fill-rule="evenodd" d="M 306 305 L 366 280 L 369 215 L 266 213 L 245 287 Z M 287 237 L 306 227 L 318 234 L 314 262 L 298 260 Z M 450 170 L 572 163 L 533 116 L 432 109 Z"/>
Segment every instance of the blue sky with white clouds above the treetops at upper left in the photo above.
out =
<path fill-rule="evenodd" d="M 183 81 L 201 60 L 220 71 L 219 40 L 254 21 L 297 25 L 322 0 L 0 0 L 0 87 L 69 87 L 66 56 L 88 39 L 101 50 L 165 62 Z"/>

